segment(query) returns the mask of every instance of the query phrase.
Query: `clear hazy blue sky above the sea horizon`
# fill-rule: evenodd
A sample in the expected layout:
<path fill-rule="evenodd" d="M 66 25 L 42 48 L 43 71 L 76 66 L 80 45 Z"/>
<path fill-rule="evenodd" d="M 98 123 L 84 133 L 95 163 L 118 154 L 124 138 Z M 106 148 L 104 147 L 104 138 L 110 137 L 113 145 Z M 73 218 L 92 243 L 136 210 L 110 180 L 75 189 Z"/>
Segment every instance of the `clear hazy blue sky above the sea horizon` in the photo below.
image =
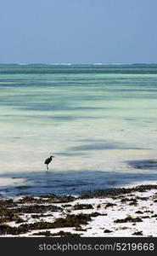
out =
<path fill-rule="evenodd" d="M 157 0 L 0 0 L 0 63 L 157 63 Z"/>

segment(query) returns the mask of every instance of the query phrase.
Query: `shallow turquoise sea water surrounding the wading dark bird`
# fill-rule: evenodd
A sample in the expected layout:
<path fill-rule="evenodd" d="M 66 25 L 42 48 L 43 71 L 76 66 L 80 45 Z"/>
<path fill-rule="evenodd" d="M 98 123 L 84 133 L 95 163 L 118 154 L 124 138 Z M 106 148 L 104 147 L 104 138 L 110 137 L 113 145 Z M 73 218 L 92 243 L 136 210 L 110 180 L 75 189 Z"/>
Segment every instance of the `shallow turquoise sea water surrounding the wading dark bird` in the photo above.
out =
<path fill-rule="evenodd" d="M 157 65 L 0 65 L 0 195 L 155 181 L 156 157 Z"/>

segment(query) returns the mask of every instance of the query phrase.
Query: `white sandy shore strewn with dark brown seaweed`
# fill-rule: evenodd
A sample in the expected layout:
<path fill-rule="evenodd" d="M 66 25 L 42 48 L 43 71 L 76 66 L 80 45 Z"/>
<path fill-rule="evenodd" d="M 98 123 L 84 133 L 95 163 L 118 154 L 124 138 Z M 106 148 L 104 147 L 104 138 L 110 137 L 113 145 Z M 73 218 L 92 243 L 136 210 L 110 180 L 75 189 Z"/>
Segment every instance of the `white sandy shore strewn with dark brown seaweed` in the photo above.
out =
<path fill-rule="evenodd" d="M 0 236 L 157 236 L 157 183 L 0 200 Z"/>

